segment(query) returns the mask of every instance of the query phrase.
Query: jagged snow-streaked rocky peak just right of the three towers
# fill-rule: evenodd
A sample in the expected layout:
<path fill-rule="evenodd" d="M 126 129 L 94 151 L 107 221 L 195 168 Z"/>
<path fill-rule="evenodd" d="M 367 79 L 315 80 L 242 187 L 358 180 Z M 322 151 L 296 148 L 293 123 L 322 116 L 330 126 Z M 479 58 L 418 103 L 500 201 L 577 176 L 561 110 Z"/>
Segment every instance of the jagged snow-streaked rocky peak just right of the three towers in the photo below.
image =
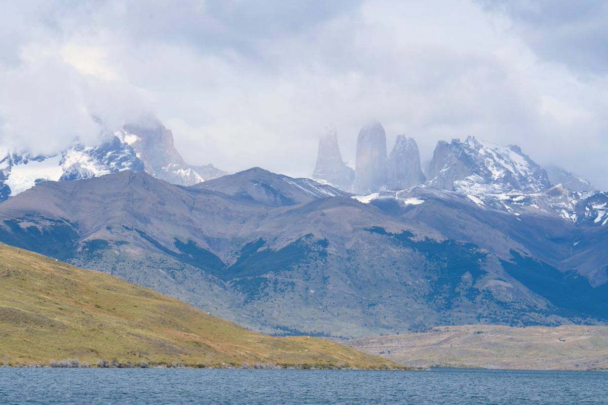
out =
<path fill-rule="evenodd" d="M 551 186 L 547 172 L 519 146 L 474 137 L 438 142 L 427 177 L 430 186 L 471 195 L 534 192 Z"/>

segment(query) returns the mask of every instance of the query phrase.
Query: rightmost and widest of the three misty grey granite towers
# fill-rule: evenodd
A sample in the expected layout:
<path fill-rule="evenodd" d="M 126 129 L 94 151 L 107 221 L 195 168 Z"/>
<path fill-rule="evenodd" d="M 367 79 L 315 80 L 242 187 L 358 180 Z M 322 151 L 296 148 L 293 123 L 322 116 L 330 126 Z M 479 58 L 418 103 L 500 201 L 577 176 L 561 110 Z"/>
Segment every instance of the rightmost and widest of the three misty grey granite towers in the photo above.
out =
<path fill-rule="evenodd" d="M 420 185 L 426 177 L 420 168 L 420 152 L 413 138 L 398 135 L 387 165 L 386 185 L 389 189 L 404 189 Z"/>

